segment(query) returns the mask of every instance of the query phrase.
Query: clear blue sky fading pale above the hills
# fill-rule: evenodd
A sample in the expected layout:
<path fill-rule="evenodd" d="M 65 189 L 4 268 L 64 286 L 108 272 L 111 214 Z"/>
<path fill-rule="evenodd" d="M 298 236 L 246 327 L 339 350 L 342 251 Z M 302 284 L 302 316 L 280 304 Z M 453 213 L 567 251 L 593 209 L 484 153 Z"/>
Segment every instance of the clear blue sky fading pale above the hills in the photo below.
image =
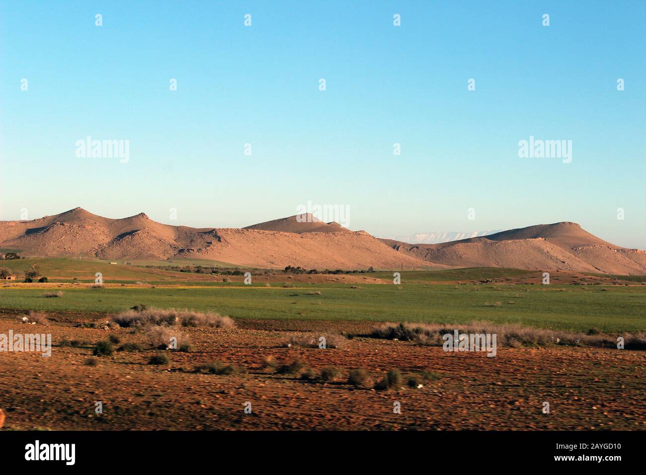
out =
<path fill-rule="evenodd" d="M 0 0 L 0 220 L 240 227 L 311 201 L 375 235 L 574 221 L 646 249 L 645 18 L 644 1 Z M 78 158 L 87 136 L 129 140 L 129 162 Z M 572 162 L 520 158 L 530 136 L 572 140 Z"/>

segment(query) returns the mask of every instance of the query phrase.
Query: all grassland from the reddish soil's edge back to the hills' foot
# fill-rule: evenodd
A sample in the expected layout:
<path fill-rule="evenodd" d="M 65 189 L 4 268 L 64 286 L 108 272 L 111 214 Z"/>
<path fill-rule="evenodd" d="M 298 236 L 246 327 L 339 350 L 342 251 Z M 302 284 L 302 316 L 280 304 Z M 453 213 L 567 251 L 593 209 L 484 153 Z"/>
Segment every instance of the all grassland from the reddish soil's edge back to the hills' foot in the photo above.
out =
<path fill-rule="evenodd" d="M 94 274 L 101 272 L 105 282 L 145 281 L 162 286 L 65 288 L 63 297 L 56 299 L 43 297 L 46 289 L 39 288 L 39 284 L 30 288 L 0 287 L 0 308 L 114 313 L 135 304 L 146 304 L 158 308 L 212 310 L 238 319 L 491 321 L 576 331 L 590 328 L 602 332 L 646 330 L 646 286 L 541 286 L 540 273 L 521 269 L 404 271 L 400 286 L 366 283 L 354 286 L 356 288 L 329 282 L 310 284 L 297 282 L 297 279 L 293 280 L 295 287 L 282 288 L 281 282 L 289 281 L 289 277 L 278 275 L 276 279 L 284 280 L 274 281 L 271 288 L 267 288 L 258 280 L 253 286 L 245 286 L 240 282 L 242 278 L 223 283 L 207 275 L 114 265 L 98 259 L 34 258 L 0 262 L 0 266 L 16 273 L 24 272 L 32 264 L 52 281 L 72 282 L 76 278 L 79 282 L 93 282 Z M 393 273 L 386 271 L 364 275 L 384 282 L 393 279 Z M 532 277 L 532 281 L 536 276 L 538 285 L 506 283 L 527 276 Z M 486 279 L 496 279 L 498 283 L 451 283 Z M 639 278 L 630 277 L 630 280 L 639 281 Z M 169 284 L 172 286 L 167 287 Z"/>

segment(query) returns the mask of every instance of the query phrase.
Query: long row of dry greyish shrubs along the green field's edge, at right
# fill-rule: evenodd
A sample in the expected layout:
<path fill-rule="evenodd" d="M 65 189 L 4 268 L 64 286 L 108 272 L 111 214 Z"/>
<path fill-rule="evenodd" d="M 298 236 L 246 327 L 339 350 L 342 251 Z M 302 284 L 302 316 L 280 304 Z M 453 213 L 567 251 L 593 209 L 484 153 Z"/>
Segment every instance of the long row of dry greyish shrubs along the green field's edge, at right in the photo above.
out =
<path fill-rule="evenodd" d="M 520 324 L 491 324 L 472 322 L 470 324 L 424 324 L 424 323 L 390 323 L 375 328 L 370 337 L 387 340 L 412 341 L 424 346 L 443 346 L 443 335 L 454 330 L 467 334 L 494 334 L 496 344 L 518 348 L 520 346 L 548 346 L 551 344 L 566 346 L 594 346 L 598 348 L 617 348 L 617 339 L 610 335 L 593 332 L 565 332 L 544 328 L 531 328 Z M 646 349 L 646 334 L 635 333 L 624 335 L 625 348 L 630 350 Z"/>

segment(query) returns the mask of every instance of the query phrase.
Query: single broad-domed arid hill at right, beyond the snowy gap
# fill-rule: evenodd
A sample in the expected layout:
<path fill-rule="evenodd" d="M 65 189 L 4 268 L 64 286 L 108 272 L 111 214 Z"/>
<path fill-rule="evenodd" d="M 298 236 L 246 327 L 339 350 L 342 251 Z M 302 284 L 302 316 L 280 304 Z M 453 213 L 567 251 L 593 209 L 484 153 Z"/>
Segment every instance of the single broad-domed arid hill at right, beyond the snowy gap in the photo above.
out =
<path fill-rule="evenodd" d="M 646 274 L 646 251 L 615 246 L 572 222 L 510 229 L 442 244 L 382 241 L 401 253 L 434 264 Z"/>

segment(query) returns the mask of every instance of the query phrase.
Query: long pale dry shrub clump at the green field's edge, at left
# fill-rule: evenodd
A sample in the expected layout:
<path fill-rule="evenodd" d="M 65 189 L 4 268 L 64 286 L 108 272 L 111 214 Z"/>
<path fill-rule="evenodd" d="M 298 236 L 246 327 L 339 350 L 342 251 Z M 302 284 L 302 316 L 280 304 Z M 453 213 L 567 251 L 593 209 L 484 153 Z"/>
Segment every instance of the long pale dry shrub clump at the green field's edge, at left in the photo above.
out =
<path fill-rule="evenodd" d="M 115 315 L 112 320 L 125 328 L 145 325 L 207 326 L 210 328 L 233 328 L 235 326 L 233 320 L 219 313 L 174 309 L 130 309 Z"/>

